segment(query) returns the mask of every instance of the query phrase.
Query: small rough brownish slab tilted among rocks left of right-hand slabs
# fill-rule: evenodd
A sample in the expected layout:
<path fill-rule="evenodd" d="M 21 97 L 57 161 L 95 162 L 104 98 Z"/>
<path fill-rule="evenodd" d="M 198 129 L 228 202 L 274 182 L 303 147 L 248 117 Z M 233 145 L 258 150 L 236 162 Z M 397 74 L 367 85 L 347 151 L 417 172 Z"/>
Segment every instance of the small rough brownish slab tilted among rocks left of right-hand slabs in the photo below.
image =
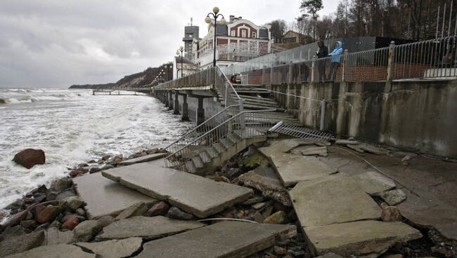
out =
<path fill-rule="evenodd" d="M 281 183 L 273 168 L 256 168 L 238 177 L 245 186 L 255 188 L 263 196 L 272 198 L 283 205 L 292 206 L 287 189 Z"/>

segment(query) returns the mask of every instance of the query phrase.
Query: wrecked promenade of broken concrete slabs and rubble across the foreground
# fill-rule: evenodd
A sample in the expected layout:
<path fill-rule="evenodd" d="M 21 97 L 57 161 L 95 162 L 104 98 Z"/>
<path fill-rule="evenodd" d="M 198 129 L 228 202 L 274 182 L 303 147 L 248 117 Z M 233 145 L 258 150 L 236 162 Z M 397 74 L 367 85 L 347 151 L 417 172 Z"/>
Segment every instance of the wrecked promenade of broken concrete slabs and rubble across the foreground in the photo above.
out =
<path fill-rule="evenodd" d="M 18 233 L 17 220 L 2 234 L 1 256 L 456 255 L 456 163 L 283 137 L 250 145 L 204 177 L 165 168 L 164 155 L 73 178 L 77 196 L 50 206 L 66 215 L 84 208 L 84 220 L 32 233 Z"/>

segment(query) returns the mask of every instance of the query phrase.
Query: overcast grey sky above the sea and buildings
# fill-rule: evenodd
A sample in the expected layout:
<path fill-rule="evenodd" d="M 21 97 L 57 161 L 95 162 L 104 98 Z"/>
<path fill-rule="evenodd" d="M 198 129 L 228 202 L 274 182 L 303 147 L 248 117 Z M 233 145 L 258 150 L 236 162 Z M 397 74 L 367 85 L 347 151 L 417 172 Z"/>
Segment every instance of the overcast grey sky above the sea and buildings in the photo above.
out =
<path fill-rule="evenodd" d="M 323 0 L 320 15 L 336 10 Z M 173 59 L 193 18 L 207 13 L 257 25 L 300 15 L 300 0 L 0 0 L 0 87 L 108 83 Z"/>

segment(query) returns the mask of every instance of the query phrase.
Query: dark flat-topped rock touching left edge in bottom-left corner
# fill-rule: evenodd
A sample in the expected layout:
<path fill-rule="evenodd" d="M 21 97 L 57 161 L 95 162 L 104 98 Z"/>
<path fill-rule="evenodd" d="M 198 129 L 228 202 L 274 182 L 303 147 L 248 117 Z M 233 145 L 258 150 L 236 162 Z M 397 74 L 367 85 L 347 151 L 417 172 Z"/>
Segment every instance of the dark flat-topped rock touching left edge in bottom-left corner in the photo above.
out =
<path fill-rule="evenodd" d="M 44 231 L 7 238 L 0 242 L 0 257 L 39 247 L 44 241 Z"/>

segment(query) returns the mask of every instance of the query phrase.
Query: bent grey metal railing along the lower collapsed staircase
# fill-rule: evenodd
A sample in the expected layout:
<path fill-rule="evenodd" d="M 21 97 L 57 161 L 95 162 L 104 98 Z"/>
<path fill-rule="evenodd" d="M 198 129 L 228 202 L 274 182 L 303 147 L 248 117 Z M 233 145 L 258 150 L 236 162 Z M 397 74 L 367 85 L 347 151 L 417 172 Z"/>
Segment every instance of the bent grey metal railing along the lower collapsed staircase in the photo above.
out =
<path fill-rule="evenodd" d="M 271 112 L 276 109 L 242 111 L 223 123 L 207 130 L 202 135 L 195 137 L 184 146 L 173 151 L 165 158 L 165 166 L 191 172 L 192 158 L 207 148 L 214 148 L 214 151 L 223 151 L 219 148 L 228 148 L 240 140 L 249 137 L 266 135 L 269 128 L 276 124 L 271 117 Z M 221 143 L 216 147 L 215 145 Z M 178 146 L 178 145 L 176 145 Z"/>

